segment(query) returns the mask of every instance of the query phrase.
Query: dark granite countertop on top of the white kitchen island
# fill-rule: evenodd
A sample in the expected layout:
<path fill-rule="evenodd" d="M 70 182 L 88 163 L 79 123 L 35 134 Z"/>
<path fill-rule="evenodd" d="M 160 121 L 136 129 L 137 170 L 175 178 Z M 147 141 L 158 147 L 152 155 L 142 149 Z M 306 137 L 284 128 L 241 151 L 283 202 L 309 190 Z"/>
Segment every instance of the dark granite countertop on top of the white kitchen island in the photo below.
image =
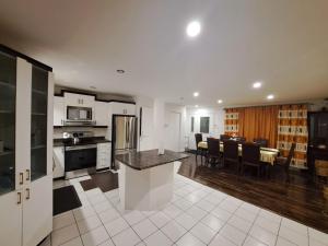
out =
<path fill-rule="evenodd" d="M 139 171 L 164 165 L 187 157 L 189 157 L 188 154 L 169 150 L 165 150 L 164 154 L 162 155 L 159 155 L 159 150 L 150 150 L 140 152 L 134 151 L 115 156 L 115 159 L 122 164 Z"/>

